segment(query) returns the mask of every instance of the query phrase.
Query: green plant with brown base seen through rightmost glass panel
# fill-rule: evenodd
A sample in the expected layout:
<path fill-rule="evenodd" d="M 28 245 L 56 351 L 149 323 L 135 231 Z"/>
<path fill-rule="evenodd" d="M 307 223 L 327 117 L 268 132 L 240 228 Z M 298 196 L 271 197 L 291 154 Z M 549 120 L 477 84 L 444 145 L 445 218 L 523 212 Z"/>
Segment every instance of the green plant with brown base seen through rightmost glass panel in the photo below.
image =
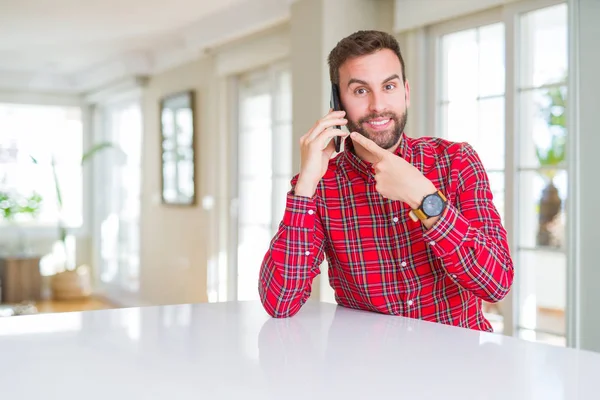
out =
<path fill-rule="evenodd" d="M 565 89 L 560 87 L 549 89 L 546 92 L 547 104 L 540 107 L 546 120 L 551 135 L 549 145 L 536 146 L 538 162 L 543 167 L 542 174 L 546 178 L 546 187 L 542 191 L 539 202 L 538 219 L 538 246 L 562 245 L 561 240 L 553 232 L 553 226 L 559 218 L 562 200 L 554 184 L 558 168 L 565 161 L 566 156 L 566 101 Z"/>

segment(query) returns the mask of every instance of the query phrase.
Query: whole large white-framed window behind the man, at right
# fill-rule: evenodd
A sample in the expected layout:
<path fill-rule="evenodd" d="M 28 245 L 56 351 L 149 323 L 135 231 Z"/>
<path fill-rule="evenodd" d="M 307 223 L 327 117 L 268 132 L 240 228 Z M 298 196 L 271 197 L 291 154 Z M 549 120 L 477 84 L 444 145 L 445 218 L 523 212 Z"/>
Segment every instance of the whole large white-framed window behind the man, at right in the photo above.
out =
<path fill-rule="evenodd" d="M 567 6 L 547 3 L 521 2 L 430 33 L 436 134 L 479 153 L 511 241 L 514 305 L 504 317 L 512 326 L 500 308 L 484 309 L 497 332 L 564 345 Z"/>

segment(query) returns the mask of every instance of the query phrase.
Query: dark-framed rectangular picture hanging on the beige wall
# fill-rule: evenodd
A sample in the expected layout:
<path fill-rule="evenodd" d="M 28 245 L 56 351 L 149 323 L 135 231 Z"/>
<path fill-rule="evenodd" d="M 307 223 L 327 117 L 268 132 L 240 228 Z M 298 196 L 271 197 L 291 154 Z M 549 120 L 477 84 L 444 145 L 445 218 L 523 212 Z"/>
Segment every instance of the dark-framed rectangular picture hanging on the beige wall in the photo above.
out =
<path fill-rule="evenodd" d="M 196 204 L 194 92 L 160 101 L 161 196 L 163 204 Z"/>

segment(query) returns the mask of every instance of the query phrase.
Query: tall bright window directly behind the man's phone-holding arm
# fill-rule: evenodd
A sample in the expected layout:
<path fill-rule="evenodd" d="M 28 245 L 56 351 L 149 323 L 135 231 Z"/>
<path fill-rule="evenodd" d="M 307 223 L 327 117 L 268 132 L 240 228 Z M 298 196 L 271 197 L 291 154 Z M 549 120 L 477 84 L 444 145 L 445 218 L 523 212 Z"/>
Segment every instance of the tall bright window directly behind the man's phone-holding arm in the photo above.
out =
<path fill-rule="evenodd" d="M 291 74 L 283 67 L 237 80 L 238 300 L 258 299 L 258 273 L 292 178 Z"/>

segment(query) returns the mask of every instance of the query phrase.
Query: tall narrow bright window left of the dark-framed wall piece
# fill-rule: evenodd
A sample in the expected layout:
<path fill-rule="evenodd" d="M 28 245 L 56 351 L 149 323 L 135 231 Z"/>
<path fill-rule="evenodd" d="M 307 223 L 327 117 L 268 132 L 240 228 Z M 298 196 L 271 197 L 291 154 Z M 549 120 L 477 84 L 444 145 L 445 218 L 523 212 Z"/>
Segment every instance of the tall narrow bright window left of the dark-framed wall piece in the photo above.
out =
<path fill-rule="evenodd" d="M 100 106 L 100 141 L 119 151 L 98 154 L 95 196 L 99 278 L 104 288 L 137 292 L 140 273 L 142 116 L 136 101 Z"/>

